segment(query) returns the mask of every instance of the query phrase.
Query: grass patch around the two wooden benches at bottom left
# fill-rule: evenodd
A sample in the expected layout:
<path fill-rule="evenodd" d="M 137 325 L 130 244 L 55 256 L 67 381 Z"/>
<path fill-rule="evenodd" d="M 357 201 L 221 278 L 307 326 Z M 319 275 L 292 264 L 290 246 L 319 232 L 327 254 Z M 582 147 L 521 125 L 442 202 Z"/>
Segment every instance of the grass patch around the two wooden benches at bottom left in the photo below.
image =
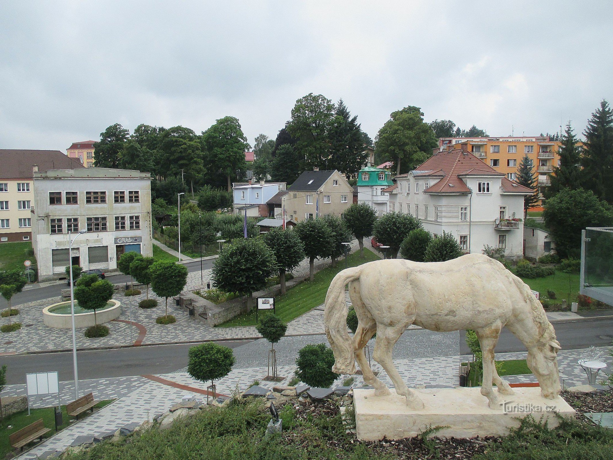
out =
<path fill-rule="evenodd" d="M 112 399 L 107 401 L 101 401 L 96 404 L 96 408 L 102 408 L 107 404 L 113 402 Z M 7 453 L 13 452 L 15 449 L 10 447 L 9 443 L 9 435 L 13 434 L 15 431 L 20 430 L 21 428 L 28 426 L 31 423 L 42 418 L 45 423 L 46 428 L 50 428 L 51 431 L 47 432 L 44 436 L 45 438 L 50 437 L 55 434 L 55 415 L 53 407 L 45 407 L 42 409 L 31 409 L 31 414 L 28 415 L 28 410 L 24 410 L 22 412 L 15 413 L 9 417 L 5 417 L 4 420 L 0 423 L 0 458 L 4 458 Z M 90 412 L 88 412 L 89 414 Z M 80 415 L 79 420 L 85 418 L 85 414 Z M 70 420 L 73 420 L 74 417 L 69 416 L 66 412 L 66 406 L 62 406 L 62 421 L 64 422 L 61 426 L 58 427 L 58 431 L 66 428 L 70 424 Z M 8 426 L 12 426 L 12 428 L 8 428 Z"/>

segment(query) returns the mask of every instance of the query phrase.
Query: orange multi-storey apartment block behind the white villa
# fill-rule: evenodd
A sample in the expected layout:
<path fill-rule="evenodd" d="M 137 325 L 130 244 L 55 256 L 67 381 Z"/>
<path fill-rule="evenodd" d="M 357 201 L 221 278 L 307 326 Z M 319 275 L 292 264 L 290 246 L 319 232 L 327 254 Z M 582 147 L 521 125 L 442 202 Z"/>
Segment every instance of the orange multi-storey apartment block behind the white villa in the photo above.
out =
<path fill-rule="evenodd" d="M 468 151 L 482 159 L 488 166 L 502 172 L 509 180 L 516 180 L 517 167 L 525 154 L 532 160 L 533 174 L 538 176 L 539 191 L 551 185 L 554 166 L 558 166 L 560 141 L 549 136 L 536 137 L 442 137 L 439 148 L 449 149 L 457 144 L 466 144 Z M 455 147 L 457 148 L 457 147 Z"/>

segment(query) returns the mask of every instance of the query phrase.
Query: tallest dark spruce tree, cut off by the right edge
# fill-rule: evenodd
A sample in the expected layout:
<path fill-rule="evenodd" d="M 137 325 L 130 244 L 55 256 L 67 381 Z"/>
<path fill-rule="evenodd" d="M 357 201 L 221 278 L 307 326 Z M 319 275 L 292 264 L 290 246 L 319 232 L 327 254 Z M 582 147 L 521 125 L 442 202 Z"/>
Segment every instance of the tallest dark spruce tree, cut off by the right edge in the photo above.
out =
<path fill-rule="evenodd" d="M 613 111 L 609 102 L 600 102 L 584 131 L 582 185 L 596 196 L 613 203 Z"/>

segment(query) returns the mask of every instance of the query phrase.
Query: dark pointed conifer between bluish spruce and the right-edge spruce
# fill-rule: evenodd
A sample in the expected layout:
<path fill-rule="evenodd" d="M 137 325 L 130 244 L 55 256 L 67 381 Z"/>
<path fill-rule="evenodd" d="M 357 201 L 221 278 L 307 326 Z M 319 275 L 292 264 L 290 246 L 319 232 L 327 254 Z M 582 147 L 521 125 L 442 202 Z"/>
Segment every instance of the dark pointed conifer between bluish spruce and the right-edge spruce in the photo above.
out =
<path fill-rule="evenodd" d="M 558 150 L 560 166 L 554 167 L 551 176 L 551 185 L 546 189 L 546 196 L 550 198 L 563 188 L 571 190 L 581 187 L 581 149 L 577 146 L 577 137 L 574 135 L 571 122 L 566 123 L 566 130 L 562 136 L 562 145 Z"/>

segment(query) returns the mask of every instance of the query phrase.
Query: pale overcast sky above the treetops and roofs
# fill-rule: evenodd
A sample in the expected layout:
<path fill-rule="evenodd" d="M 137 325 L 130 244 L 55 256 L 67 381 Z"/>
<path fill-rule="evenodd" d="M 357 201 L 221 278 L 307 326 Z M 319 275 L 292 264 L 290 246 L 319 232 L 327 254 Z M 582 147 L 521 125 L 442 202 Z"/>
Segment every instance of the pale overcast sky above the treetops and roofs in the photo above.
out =
<path fill-rule="evenodd" d="M 581 132 L 613 102 L 612 50 L 609 0 L 3 1 L 0 148 L 226 115 L 253 145 L 308 93 L 373 139 L 406 105 L 490 136 Z"/>

